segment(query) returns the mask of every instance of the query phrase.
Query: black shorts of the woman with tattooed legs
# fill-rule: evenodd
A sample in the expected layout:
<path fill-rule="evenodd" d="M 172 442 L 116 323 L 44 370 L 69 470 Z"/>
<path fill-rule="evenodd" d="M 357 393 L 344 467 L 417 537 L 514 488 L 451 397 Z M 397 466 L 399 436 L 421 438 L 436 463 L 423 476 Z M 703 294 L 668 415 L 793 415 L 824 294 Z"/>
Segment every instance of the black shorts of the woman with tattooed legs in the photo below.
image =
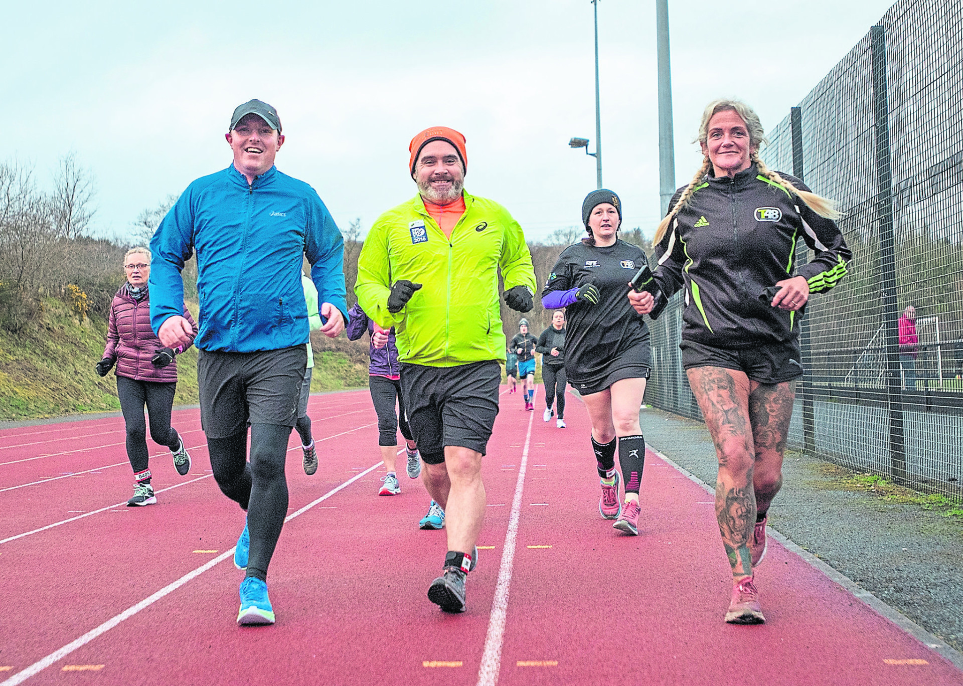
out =
<path fill-rule="evenodd" d="M 802 356 L 799 355 L 799 341 L 759 345 L 742 350 L 712 348 L 701 343 L 684 340 L 682 366 L 722 367 L 743 372 L 751 381 L 757 383 L 785 383 L 802 376 Z"/>

